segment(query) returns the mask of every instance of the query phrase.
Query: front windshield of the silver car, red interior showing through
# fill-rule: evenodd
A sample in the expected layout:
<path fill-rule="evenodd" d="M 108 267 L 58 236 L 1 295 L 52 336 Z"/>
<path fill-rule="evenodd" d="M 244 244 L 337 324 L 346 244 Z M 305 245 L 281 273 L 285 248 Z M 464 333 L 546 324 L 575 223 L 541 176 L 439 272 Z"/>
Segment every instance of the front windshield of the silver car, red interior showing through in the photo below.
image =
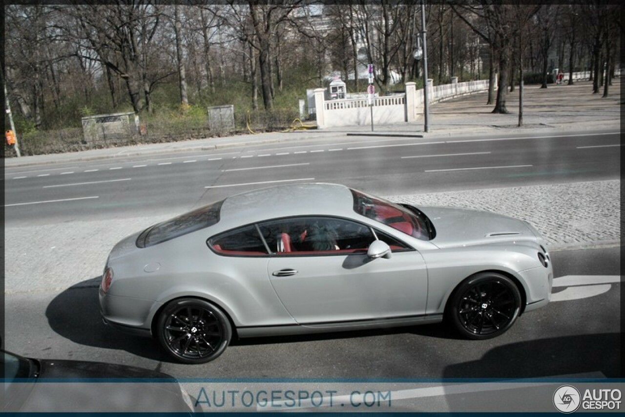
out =
<path fill-rule="evenodd" d="M 432 228 L 427 217 L 418 210 L 351 190 L 354 196 L 354 211 L 369 219 L 386 224 L 393 229 L 421 240 L 432 239 Z"/>

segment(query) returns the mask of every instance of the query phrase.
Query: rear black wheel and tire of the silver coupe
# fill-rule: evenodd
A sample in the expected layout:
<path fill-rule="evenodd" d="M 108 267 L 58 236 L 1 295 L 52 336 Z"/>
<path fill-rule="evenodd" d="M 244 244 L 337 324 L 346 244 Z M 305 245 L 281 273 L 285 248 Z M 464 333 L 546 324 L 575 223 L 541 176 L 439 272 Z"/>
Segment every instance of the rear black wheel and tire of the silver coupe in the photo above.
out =
<path fill-rule="evenodd" d="M 170 302 L 156 326 L 163 348 L 176 361 L 187 364 L 216 359 L 224 353 L 232 337 L 226 314 L 210 302 L 194 298 Z"/>

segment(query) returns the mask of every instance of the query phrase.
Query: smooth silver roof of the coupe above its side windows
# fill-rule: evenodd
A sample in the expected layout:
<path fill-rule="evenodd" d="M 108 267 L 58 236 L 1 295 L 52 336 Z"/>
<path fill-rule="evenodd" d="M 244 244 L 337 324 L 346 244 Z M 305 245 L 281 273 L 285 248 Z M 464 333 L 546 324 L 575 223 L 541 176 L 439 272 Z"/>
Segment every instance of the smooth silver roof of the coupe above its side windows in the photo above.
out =
<path fill-rule="evenodd" d="M 246 224 L 294 215 L 351 215 L 350 188 L 330 183 L 297 183 L 261 188 L 227 197 L 219 222 Z"/>

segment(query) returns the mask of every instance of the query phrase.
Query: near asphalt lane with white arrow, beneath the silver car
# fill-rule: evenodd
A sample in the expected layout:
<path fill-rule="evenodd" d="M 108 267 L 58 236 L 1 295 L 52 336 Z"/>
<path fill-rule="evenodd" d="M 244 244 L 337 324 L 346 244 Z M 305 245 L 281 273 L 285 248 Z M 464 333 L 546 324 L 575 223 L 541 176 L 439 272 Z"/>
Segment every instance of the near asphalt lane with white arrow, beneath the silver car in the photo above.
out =
<path fill-rule="evenodd" d="M 572 275 L 572 282 L 556 279 L 550 304 L 487 341 L 458 339 L 441 324 L 263 337 L 234 341 L 211 363 L 182 365 L 156 341 L 104 326 L 92 282 L 58 294 L 8 297 L 6 348 L 36 358 L 132 364 L 177 378 L 616 378 L 622 376 L 619 252 L 552 252 L 555 276 Z"/>

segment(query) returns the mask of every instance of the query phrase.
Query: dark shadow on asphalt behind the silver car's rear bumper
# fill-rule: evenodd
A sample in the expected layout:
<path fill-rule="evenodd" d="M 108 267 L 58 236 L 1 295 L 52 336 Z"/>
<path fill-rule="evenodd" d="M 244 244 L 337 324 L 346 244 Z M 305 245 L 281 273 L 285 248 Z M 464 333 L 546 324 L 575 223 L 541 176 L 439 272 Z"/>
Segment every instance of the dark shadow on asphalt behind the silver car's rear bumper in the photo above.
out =
<path fill-rule="evenodd" d="M 119 332 L 103 323 L 98 302 L 102 277 L 69 287 L 48 304 L 46 318 L 50 328 L 78 344 L 114 349 L 155 361 L 173 362 L 151 337 Z"/>

